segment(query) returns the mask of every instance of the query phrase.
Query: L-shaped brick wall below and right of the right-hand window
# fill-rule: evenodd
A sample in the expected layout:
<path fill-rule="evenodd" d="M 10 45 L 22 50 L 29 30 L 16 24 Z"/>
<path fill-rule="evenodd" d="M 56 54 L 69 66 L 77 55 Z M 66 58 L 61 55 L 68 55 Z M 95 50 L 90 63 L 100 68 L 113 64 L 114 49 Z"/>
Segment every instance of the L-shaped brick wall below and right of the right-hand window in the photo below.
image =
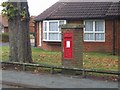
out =
<path fill-rule="evenodd" d="M 112 52 L 112 22 L 105 21 L 105 42 L 83 42 L 84 51 Z"/>

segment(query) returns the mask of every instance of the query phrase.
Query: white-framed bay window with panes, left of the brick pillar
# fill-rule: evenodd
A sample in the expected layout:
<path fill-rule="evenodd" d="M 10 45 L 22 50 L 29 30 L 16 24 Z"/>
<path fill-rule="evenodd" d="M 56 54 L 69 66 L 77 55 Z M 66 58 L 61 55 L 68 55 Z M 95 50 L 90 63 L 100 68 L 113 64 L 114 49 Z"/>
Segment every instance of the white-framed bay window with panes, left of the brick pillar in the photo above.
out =
<path fill-rule="evenodd" d="M 43 40 L 61 41 L 61 31 L 59 26 L 66 24 L 65 20 L 43 21 Z"/>

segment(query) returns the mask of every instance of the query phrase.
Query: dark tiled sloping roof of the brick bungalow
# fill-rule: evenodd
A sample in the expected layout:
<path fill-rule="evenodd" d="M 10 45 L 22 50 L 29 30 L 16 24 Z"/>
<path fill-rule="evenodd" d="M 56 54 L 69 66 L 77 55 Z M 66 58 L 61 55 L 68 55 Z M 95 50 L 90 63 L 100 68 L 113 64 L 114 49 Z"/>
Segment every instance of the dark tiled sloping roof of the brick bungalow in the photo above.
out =
<path fill-rule="evenodd" d="M 70 2 L 69 2 L 70 1 Z M 50 19 L 105 18 L 120 15 L 120 2 L 110 0 L 60 0 L 35 18 L 35 21 Z M 78 2 L 77 2 L 78 1 Z M 86 1 L 86 2 L 85 2 Z M 102 2 L 99 2 L 102 1 Z M 116 2 L 115 2 L 116 1 Z"/>

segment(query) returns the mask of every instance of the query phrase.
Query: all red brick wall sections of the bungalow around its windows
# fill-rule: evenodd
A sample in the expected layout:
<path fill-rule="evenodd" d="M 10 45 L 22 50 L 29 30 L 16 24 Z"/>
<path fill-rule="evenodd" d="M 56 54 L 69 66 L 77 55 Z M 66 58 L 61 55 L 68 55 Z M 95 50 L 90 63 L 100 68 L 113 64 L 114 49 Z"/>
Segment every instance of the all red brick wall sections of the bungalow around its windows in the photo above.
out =
<path fill-rule="evenodd" d="M 68 21 L 69 24 L 81 24 L 83 21 Z M 112 52 L 113 51 L 113 23 L 111 20 L 106 20 L 105 21 L 105 42 L 83 42 L 83 47 L 84 51 L 95 51 L 95 52 Z M 120 21 L 117 21 L 117 37 L 116 37 L 116 51 L 120 50 L 119 45 L 120 42 L 118 42 L 119 35 L 120 35 Z M 39 45 L 39 31 L 38 31 L 38 24 L 37 24 L 37 46 Z M 43 33 L 43 30 L 42 32 Z M 119 34 L 119 35 L 118 35 Z M 119 40 L 118 40 L 119 39 Z M 43 40 L 43 35 L 42 35 L 42 40 Z M 119 43 L 119 45 L 118 45 Z M 42 41 L 42 46 L 41 48 L 45 50 L 51 50 L 51 51 L 60 51 L 61 50 L 61 43 L 48 43 Z"/>

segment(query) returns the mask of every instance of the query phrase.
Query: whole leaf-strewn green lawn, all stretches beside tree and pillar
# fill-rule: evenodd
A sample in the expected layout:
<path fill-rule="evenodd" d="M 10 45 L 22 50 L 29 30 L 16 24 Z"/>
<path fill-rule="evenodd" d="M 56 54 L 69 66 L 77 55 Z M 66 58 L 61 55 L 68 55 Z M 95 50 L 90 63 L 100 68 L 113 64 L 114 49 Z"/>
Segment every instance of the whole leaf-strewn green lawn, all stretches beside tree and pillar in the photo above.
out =
<path fill-rule="evenodd" d="M 2 60 L 7 61 L 9 47 L 2 47 Z M 32 58 L 35 63 L 61 66 L 61 52 L 45 51 L 32 48 Z M 83 54 L 84 68 L 99 70 L 118 70 L 118 56 L 110 53 L 87 52 Z"/>

